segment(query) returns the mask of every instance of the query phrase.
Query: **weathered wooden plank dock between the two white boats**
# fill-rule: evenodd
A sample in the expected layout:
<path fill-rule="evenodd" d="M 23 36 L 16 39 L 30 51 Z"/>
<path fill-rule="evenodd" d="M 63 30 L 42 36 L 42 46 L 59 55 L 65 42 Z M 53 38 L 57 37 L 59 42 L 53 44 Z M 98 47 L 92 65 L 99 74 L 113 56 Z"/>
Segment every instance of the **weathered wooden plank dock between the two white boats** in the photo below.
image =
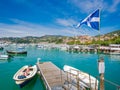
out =
<path fill-rule="evenodd" d="M 37 62 L 37 67 L 46 90 L 88 90 L 80 83 L 79 74 L 64 72 L 52 62 Z"/>

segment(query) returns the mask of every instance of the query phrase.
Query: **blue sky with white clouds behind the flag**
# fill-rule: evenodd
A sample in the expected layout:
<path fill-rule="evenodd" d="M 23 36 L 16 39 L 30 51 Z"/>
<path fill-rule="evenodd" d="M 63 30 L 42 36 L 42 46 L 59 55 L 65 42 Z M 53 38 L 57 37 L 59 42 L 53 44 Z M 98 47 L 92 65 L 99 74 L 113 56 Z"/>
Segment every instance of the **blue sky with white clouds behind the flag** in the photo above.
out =
<path fill-rule="evenodd" d="M 73 28 L 97 8 L 101 34 L 120 29 L 120 0 L 0 0 L 0 37 L 97 35 Z"/>

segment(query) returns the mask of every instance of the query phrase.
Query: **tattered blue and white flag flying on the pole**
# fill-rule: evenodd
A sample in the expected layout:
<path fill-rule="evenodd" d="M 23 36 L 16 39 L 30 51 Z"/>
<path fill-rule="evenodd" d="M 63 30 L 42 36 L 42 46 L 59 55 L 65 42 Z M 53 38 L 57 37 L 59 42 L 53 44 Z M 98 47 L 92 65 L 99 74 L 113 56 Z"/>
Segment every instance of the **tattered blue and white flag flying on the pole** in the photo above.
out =
<path fill-rule="evenodd" d="M 82 24 L 86 24 L 87 26 L 93 29 L 99 30 L 99 22 L 100 22 L 99 9 L 97 9 L 95 12 L 87 16 L 80 23 L 78 23 L 77 28 L 80 27 Z"/>

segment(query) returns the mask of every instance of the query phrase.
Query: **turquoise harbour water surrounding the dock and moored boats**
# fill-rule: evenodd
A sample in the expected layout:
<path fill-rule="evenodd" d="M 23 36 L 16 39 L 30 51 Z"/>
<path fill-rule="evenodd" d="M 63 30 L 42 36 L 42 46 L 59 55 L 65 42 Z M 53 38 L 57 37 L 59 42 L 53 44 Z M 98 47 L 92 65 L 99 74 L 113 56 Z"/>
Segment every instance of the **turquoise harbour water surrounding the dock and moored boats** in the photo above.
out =
<path fill-rule="evenodd" d="M 59 68 L 65 64 L 78 68 L 93 76 L 98 76 L 97 54 L 90 53 L 69 53 L 58 49 L 37 49 L 27 47 L 27 56 L 14 56 L 6 61 L 0 61 L 0 90 L 45 90 L 43 82 L 38 75 L 23 88 L 19 88 L 13 78 L 15 72 L 24 65 L 36 64 L 37 58 L 41 61 L 51 61 Z M 105 79 L 120 85 L 120 56 L 100 55 L 105 60 Z M 114 86 L 105 84 L 106 90 L 116 90 Z"/>

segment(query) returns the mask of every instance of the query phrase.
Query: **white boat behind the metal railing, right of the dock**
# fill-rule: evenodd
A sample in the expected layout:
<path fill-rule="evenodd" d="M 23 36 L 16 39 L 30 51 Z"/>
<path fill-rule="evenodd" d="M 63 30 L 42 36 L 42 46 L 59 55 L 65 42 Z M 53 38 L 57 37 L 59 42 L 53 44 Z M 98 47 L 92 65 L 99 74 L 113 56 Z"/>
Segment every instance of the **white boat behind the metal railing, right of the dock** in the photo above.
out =
<path fill-rule="evenodd" d="M 88 89 L 91 88 L 91 90 L 98 90 L 99 81 L 95 77 L 89 75 L 88 73 L 82 72 L 74 67 L 68 66 L 68 65 L 64 65 L 63 70 L 65 72 L 70 73 L 73 76 L 78 75 L 80 84 L 83 85 L 84 87 Z M 74 80 L 74 82 L 77 82 L 77 80 Z"/>

